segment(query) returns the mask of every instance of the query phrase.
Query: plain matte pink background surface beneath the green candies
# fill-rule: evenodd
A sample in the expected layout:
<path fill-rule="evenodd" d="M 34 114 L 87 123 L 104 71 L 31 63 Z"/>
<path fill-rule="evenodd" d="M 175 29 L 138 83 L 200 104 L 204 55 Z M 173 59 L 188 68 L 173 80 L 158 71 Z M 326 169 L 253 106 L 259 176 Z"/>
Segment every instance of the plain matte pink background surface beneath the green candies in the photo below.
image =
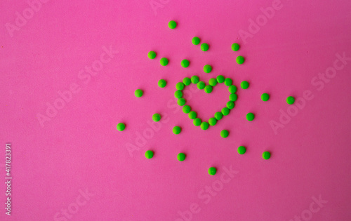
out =
<path fill-rule="evenodd" d="M 240 36 L 250 19 L 264 22 L 260 8 L 272 2 L 48 1 L 11 37 L 6 23 L 15 25 L 16 12 L 29 6 L 1 1 L 0 179 L 11 142 L 13 184 L 11 217 L 2 208 L 0 220 L 351 220 L 351 2 L 282 1 L 256 34 Z M 169 29 L 169 20 L 178 27 Z M 192 45 L 193 36 L 209 51 Z M 237 52 L 234 42 L 241 45 Z M 104 46 L 119 53 L 94 76 L 79 74 L 100 60 Z M 147 58 L 151 50 L 155 60 Z M 333 67 L 336 53 L 349 60 L 337 62 L 343 68 L 324 88 L 312 85 L 322 82 L 314 77 Z M 162 57 L 168 66 L 159 65 Z M 187 69 L 180 66 L 185 58 Z M 202 71 L 206 64 L 211 74 Z M 204 131 L 173 97 L 176 83 L 193 74 L 206 82 L 223 74 L 250 87 L 239 88 L 230 115 Z M 157 86 L 159 79 L 166 88 Z M 46 115 L 47 103 L 74 83 L 79 93 L 42 127 L 38 114 Z M 145 91 L 142 98 L 135 98 L 137 88 Z M 288 111 L 286 97 L 306 90 L 313 99 L 274 134 L 270 121 Z M 268 102 L 262 93 L 270 93 Z M 228 95 L 221 84 L 211 94 L 186 96 L 208 119 Z M 156 112 L 164 121 L 155 132 Z M 254 121 L 246 120 L 248 112 Z M 119 122 L 126 123 L 123 132 L 116 130 Z M 180 135 L 172 133 L 176 125 Z M 230 130 L 226 139 L 223 129 Z M 246 154 L 237 153 L 240 145 Z M 153 159 L 145 159 L 147 149 Z M 270 160 L 262 159 L 264 151 L 272 152 Z M 177 161 L 179 152 L 185 161 Z M 218 168 L 214 176 L 207 173 L 211 166 Z M 222 175 L 223 167 L 237 174 Z M 86 189 L 93 194 L 88 199 L 81 195 Z M 2 203 L 5 191 L 3 183 Z M 319 196 L 322 206 L 314 203 Z M 85 200 L 78 210 L 77 197 Z"/>

